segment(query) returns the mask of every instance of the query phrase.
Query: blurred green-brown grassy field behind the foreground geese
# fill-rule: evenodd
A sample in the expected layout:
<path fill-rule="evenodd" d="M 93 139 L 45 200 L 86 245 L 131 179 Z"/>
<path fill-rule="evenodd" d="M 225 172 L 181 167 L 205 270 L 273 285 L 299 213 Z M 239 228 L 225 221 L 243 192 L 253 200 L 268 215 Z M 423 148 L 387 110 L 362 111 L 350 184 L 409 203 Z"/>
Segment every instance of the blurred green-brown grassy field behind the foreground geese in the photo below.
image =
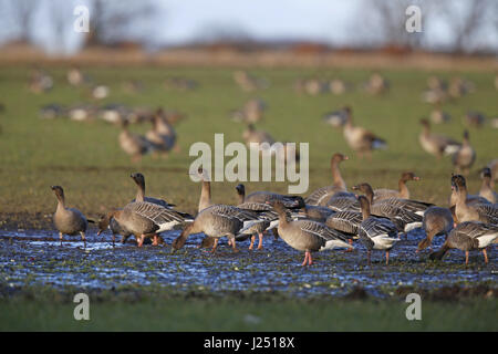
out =
<path fill-rule="evenodd" d="M 194 160 L 188 156 L 195 142 L 214 143 L 215 133 L 225 133 L 225 142 L 241 140 L 243 125 L 229 118 L 230 110 L 238 108 L 248 98 L 258 96 L 268 103 L 264 121 L 259 128 L 277 139 L 310 143 L 310 187 L 330 184 L 329 158 L 335 152 L 352 158 L 342 165 L 349 186 L 370 181 L 374 188 L 395 188 L 403 170 L 414 170 L 422 181 L 409 185 L 414 198 L 445 205 L 449 195 L 449 159 L 437 162 L 418 145 L 418 119 L 432 107 L 421 100 L 426 79 L 437 74 L 449 79 L 457 73 L 391 70 L 382 73 L 391 81 L 392 90 L 384 96 L 370 96 L 357 86 L 371 71 L 366 70 L 251 70 L 266 77 L 271 86 L 257 93 L 245 93 L 236 86 L 232 70 L 224 69 L 162 69 L 162 67 L 83 67 L 95 82 L 111 86 L 111 95 L 98 104 L 124 103 L 129 106 L 163 106 L 188 115 L 176 129 L 181 147 L 168 159 L 147 156 L 137 165 L 117 144 L 118 128 L 102 121 L 76 123 L 68 119 L 43 121 L 40 106 L 48 103 L 71 105 L 89 102 L 85 88 L 73 88 L 65 82 L 66 67 L 48 67 L 55 79 L 54 88 L 35 95 L 28 91 L 30 67 L 0 69 L 0 97 L 6 111 L 0 113 L 0 212 L 4 227 L 46 226 L 53 212 L 55 198 L 49 186 L 62 185 L 71 206 L 93 216 L 110 207 L 126 204 L 135 194 L 129 173 L 141 170 L 147 178 L 147 194 L 162 196 L 180 210 L 195 212 L 199 186 L 191 183 L 187 168 Z M 191 92 L 166 91 L 164 80 L 185 76 L 199 82 Z M 297 95 L 292 88 L 299 77 L 341 77 L 355 90 L 341 96 Z M 478 110 L 492 116 L 498 112 L 492 75 L 486 72 L 458 73 L 473 81 L 477 92 L 445 104 L 453 121 L 434 129 L 460 139 L 461 117 L 468 110 Z M 141 80 L 143 93 L 129 95 L 122 90 L 125 80 Z M 390 147 L 374 154 L 372 163 L 359 160 L 345 145 L 342 132 L 326 126 L 321 117 L 331 110 L 350 104 L 355 122 L 384 137 Z M 145 132 L 148 126 L 134 126 Z M 479 167 L 496 158 L 496 129 L 470 129 L 477 160 L 469 176 L 470 191 L 480 185 Z M 214 184 L 216 202 L 236 202 L 236 183 Z M 272 189 L 287 192 L 284 183 L 248 183 L 250 192 Z M 46 222 L 45 222 L 46 221 Z"/>

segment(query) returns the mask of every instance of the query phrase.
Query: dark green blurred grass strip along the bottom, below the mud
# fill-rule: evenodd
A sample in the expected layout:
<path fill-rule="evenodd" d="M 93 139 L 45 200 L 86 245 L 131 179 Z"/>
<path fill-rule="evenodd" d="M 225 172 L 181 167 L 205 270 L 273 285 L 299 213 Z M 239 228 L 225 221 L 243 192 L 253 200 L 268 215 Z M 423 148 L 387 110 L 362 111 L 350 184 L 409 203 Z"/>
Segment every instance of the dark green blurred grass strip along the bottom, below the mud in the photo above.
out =
<path fill-rule="evenodd" d="M 75 304 L 0 302 L 0 331 L 497 331 L 497 300 L 422 302 L 408 321 L 403 301 L 146 300 L 91 302 L 90 321 Z M 478 321 L 476 321 L 478 319 Z"/>

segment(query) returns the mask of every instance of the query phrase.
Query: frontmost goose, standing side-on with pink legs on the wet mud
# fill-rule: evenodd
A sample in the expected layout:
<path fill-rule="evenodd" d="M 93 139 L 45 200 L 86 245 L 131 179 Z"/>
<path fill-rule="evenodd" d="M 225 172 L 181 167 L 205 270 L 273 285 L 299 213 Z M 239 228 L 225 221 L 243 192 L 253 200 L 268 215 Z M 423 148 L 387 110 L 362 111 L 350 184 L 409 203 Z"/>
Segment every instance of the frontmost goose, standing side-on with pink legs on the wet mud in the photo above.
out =
<path fill-rule="evenodd" d="M 312 220 L 289 221 L 286 215 L 286 207 L 281 201 L 267 202 L 279 215 L 278 232 L 282 240 L 293 249 L 304 252 L 304 261 L 301 266 L 313 264 L 311 252 L 334 248 L 353 248 L 347 243 L 347 239 L 342 232 Z"/>

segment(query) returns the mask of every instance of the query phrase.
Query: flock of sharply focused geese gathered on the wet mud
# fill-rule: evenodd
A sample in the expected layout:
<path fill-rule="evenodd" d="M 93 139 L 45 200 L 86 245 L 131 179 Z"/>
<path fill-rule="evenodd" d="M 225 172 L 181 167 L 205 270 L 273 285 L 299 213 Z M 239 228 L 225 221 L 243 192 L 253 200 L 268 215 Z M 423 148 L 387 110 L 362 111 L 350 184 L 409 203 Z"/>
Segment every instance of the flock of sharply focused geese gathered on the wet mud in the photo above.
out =
<path fill-rule="evenodd" d="M 449 208 L 411 199 L 408 181 L 419 178 L 414 173 L 402 174 L 397 189 L 373 189 L 369 183 L 353 186 L 349 191 L 340 171 L 340 164 L 347 160 L 343 154 L 331 158 L 332 185 L 312 191 L 307 198 L 286 196 L 271 191 L 253 191 L 246 195 L 246 187 L 238 185 L 237 205 L 216 204 L 211 198 L 209 176 L 206 170 L 197 171 L 201 179 L 198 214 L 191 216 L 175 209 L 175 205 L 163 199 L 147 197 L 145 177 L 135 173 L 131 177 L 136 184 L 135 199 L 120 209 L 110 210 L 97 221 L 87 220 L 74 208 L 65 205 L 64 191 L 52 186 L 58 199 L 53 217 L 62 246 L 63 235 L 81 235 L 86 247 L 87 222 L 96 222 L 97 235 L 110 229 L 113 244 L 117 235 L 124 243 L 131 236 L 138 247 L 145 239 L 157 246 L 163 240 L 160 232 L 181 228 L 173 241 L 173 250 L 184 247 L 189 235 L 204 233 L 199 248 L 215 252 L 218 241 L 228 238 L 229 246 L 238 251 L 237 242 L 250 239 L 249 249 L 263 246 L 263 236 L 272 232 L 291 248 L 304 252 L 302 266 L 312 264 L 312 252 L 345 249 L 351 251 L 354 241 L 366 248 L 366 260 L 371 264 L 373 250 L 385 252 L 388 264 L 390 251 L 402 241 L 401 236 L 415 228 L 423 228 L 426 238 L 416 252 L 430 247 L 436 235 L 445 235 L 442 248 L 429 254 L 442 259 L 449 249 L 465 251 L 468 264 L 470 250 L 481 250 L 488 262 L 486 248 L 498 240 L 497 194 L 492 191 L 498 179 L 498 160 L 483 169 L 483 187 L 478 195 L 469 195 L 466 179 L 452 175 Z M 164 240 L 163 240 L 164 241 Z"/>

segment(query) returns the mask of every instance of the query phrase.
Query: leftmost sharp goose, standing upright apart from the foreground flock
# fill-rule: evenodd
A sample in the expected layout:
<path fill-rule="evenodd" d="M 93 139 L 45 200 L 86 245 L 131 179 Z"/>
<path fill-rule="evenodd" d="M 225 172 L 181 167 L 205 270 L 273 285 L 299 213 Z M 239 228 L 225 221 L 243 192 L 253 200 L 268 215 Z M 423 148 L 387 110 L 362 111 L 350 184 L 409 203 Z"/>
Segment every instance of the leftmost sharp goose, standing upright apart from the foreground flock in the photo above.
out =
<path fill-rule="evenodd" d="M 85 232 L 89 220 L 86 220 L 85 216 L 80 210 L 65 207 L 64 189 L 62 189 L 61 186 L 52 186 L 50 188 L 53 190 L 55 197 L 58 198 L 58 208 L 55 209 L 55 214 L 53 215 L 53 223 L 59 230 L 59 239 L 61 241 L 61 246 L 63 235 L 74 236 L 80 233 L 81 240 L 86 248 Z"/>

